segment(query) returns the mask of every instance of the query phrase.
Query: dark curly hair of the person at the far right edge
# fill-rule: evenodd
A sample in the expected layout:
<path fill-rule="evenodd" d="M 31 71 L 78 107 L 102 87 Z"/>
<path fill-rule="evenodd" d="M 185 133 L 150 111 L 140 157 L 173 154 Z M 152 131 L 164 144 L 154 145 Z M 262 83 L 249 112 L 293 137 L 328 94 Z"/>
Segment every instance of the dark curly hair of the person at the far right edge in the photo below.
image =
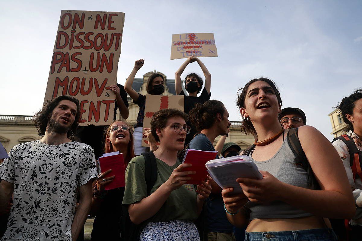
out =
<path fill-rule="evenodd" d="M 337 109 L 338 113 L 341 113 L 343 121 L 347 124 L 347 127 L 343 130 L 343 133 L 353 131 L 352 123 L 347 119 L 346 114 L 353 115 L 353 109 L 355 102 L 362 98 L 362 89 L 354 91 L 350 96 L 347 96 L 342 99 L 339 106 L 334 106 L 333 108 Z"/>

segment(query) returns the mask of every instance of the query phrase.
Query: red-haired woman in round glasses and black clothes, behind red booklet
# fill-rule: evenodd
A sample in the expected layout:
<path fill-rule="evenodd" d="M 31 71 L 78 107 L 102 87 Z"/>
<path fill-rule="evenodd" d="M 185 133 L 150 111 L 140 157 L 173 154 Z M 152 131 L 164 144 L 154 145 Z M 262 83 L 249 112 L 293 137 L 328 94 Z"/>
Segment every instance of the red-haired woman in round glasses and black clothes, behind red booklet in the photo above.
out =
<path fill-rule="evenodd" d="M 105 153 L 119 151 L 123 154 L 125 166 L 135 156 L 132 129 L 124 121 L 115 121 L 105 131 Z M 111 169 L 98 175 L 94 182 L 90 216 L 94 218 L 92 240 L 121 240 L 121 220 L 123 193 L 125 188 L 105 191 L 104 186 L 115 176 L 104 178 Z"/>

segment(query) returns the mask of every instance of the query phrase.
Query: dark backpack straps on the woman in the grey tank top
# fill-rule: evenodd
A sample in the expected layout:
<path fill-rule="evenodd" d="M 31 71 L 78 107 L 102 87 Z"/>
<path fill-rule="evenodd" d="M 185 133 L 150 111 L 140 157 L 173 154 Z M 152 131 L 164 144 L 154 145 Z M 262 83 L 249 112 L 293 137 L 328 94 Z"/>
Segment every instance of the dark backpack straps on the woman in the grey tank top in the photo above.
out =
<path fill-rule="evenodd" d="M 298 137 L 298 128 L 290 129 L 287 133 L 287 141 L 289 143 L 290 149 L 295 155 L 294 162 L 295 165 L 299 165 L 303 167 L 307 172 L 308 185 L 311 189 L 320 190 L 320 186 L 313 174 L 311 165 L 307 160 L 307 156 L 303 151 L 302 146 L 300 145 L 299 137 Z M 243 155 L 250 155 L 252 150 L 254 150 L 255 145 L 249 146 L 247 149 L 243 151 Z"/>

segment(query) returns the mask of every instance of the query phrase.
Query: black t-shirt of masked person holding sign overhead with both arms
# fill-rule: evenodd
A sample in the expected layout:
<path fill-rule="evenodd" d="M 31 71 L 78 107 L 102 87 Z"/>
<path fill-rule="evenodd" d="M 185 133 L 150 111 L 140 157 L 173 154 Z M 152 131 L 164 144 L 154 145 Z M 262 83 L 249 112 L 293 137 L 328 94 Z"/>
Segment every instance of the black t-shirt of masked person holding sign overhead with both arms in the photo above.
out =
<path fill-rule="evenodd" d="M 184 91 L 180 92 L 180 95 L 185 95 Z M 198 97 L 195 96 L 186 96 L 185 95 L 185 113 L 188 114 L 192 108 L 195 107 L 196 103 L 205 103 L 207 100 L 210 100 L 210 94 L 207 93 L 207 90 L 204 88 L 201 92 L 201 95 Z M 197 133 L 196 128 L 191 125 L 191 122 L 188 121 L 187 124 L 191 127 L 190 133 L 186 135 L 185 146 L 194 138 L 194 135 Z"/>

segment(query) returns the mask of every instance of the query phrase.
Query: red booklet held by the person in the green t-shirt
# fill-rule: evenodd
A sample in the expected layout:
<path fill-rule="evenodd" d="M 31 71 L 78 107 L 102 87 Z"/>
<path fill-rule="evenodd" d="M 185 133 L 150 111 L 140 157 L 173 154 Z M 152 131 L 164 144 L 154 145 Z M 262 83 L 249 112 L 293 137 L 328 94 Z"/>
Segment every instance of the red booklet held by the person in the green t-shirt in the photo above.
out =
<path fill-rule="evenodd" d="M 186 184 L 201 184 L 201 181 L 205 181 L 208 174 L 205 163 L 214 160 L 217 154 L 217 151 L 186 149 L 182 163 L 191 163 L 192 167 L 184 168 L 182 171 L 196 171 L 196 174 L 190 175 L 192 179 Z"/>

